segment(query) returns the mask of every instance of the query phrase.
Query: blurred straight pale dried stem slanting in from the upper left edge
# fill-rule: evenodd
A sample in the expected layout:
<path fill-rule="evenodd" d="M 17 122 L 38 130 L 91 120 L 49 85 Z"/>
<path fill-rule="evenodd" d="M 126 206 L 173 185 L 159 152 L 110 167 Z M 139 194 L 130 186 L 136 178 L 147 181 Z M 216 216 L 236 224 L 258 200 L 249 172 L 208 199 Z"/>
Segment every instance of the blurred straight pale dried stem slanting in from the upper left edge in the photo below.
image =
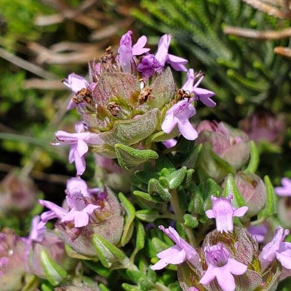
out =
<path fill-rule="evenodd" d="M 43 68 L 15 56 L 14 54 L 8 52 L 5 49 L 0 48 L 0 57 L 14 65 L 19 66 L 20 68 L 32 72 L 33 74 L 39 77 L 50 80 L 56 79 L 56 76 L 54 74 L 47 72 Z"/>

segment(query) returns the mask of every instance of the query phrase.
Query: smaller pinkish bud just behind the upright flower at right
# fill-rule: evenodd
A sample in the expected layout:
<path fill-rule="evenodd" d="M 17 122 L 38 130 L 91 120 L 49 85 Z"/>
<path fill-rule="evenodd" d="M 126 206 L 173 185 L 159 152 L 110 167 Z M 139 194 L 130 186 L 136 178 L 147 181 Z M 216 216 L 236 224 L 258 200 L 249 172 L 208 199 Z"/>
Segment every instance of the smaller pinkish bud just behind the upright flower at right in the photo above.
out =
<path fill-rule="evenodd" d="M 245 174 L 242 171 L 235 175 L 234 180 L 248 207 L 245 215 L 252 217 L 258 214 L 266 203 L 267 190 L 263 180 L 256 174 Z"/>

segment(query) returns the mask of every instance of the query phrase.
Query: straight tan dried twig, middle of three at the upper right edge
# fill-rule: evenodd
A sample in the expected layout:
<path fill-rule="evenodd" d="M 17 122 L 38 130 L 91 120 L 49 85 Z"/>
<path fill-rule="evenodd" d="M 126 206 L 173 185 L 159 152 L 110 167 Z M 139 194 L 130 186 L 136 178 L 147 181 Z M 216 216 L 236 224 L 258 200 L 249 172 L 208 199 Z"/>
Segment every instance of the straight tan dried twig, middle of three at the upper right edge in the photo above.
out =
<path fill-rule="evenodd" d="M 226 26 L 223 30 L 226 34 L 233 34 L 247 38 L 255 39 L 281 39 L 291 37 L 291 28 L 286 28 L 281 31 L 258 31 L 255 29 L 246 29 L 240 27 Z"/>

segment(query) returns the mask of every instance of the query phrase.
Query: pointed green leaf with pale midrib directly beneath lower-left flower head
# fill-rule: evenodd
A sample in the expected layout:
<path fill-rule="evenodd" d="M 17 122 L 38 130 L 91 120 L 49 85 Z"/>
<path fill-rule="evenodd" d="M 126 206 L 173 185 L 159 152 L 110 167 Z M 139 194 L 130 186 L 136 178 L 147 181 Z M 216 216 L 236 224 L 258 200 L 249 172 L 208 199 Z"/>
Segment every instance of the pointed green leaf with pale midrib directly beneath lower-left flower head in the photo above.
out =
<path fill-rule="evenodd" d="M 119 248 L 97 234 L 92 235 L 92 243 L 98 258 L 106 268 L 110 268 L 114 261 L 125 258 L 124 253 Z"/>

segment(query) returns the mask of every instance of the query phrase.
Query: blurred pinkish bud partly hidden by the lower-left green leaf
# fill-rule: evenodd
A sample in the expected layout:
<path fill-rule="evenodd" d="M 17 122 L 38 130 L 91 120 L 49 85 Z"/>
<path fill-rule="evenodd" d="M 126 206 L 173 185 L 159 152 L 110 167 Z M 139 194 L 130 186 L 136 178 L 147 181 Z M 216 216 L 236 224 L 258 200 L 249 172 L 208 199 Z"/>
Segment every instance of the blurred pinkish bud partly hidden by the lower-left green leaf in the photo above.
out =
<path fill-rule="evenodd" d="M 38 277 L 44 279 L 47 278 L 41 260 L 43 252 L 66 271 L 72 270 L 75 266 L 75 261 L 66 255 L 65 243 L 62 239 L 53 231 L 46 230 L 41 242 L 32 242 L 32 247 L 29 253 L 29 269 Z"/>

